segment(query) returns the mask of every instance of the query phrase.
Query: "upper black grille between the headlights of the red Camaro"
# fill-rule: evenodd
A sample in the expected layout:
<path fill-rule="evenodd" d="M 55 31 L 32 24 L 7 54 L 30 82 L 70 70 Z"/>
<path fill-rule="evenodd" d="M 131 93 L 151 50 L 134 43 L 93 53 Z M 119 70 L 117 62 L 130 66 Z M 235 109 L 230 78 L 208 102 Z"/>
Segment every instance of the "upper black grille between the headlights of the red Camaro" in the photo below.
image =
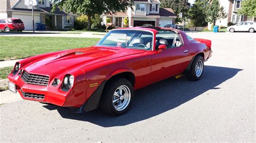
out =
<path fill-rule="evenodd" d="M 22 73 L 22 80 L 25 83 L 29 84 L 37 84 L 37 85 L 44 85 L 47 86 L 49 83 L 49 77 L 45 75 L 36 75 L 36 74 L 29 74 L 25 70 Z"/>

